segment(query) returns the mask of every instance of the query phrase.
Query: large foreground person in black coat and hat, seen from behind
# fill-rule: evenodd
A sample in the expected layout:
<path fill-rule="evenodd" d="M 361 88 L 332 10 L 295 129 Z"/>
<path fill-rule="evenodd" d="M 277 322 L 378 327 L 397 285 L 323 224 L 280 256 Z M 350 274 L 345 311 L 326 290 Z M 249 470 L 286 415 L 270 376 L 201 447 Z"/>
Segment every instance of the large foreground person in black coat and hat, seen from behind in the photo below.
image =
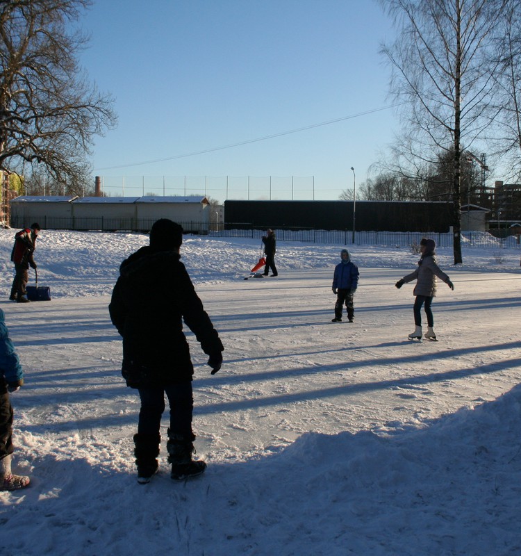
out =
<path fill-rule="evenodd" d="M 220 370 L 224 347 L 181 263 L 183 228 L 165 218 L 150 231 L 150 245 L 122 262 L 108 307 L 123 338 L 122 375 L 138 389 L 141 409 L 134 436 L 138 482 L 158 470 L 160 421 L 169 401 L 168 461 L 172 479 L 203 473 L 204 461 L 192 459 L 192 375 L 183 320 L 208 354 L 212 375 Z"/>

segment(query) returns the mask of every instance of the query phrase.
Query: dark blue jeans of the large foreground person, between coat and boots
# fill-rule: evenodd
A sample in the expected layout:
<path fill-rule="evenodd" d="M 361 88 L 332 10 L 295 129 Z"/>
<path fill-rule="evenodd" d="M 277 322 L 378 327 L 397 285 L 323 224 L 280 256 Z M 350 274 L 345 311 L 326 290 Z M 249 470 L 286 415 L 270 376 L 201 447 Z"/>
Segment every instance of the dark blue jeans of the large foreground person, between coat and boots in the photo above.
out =
<path fill-rule="evenodd" d="M 139 393 L 141 409 L 138 434 L 159 434 L 166 394 L 170 407 L 170 432 L 185 437 L 192 435 L 192 382 L 171 384 L 164 388 L 140 389 Z"/>

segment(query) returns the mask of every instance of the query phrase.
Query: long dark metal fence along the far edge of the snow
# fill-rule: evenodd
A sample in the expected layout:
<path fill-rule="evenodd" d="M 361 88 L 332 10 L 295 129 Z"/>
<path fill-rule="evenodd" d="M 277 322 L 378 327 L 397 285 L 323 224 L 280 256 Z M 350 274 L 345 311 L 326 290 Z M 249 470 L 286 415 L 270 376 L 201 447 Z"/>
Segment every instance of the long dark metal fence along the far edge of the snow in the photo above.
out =
<path fill-rule="evenodd" d="M 43 229 L 76 230 L 76 231 L 126 231 L 148 233 L 156 218 L 58 218 L 45 217 L 39 224 Z M 265 229 L 259 229 L 245 222 L 222 224 L 221 222 L 192 222 L 186 221 L 179 224 L 185 234 L 200 236 L 213 236 L 222 238 L 261 238 Z M 22 218 L 13 218 L 11 226 L 22 228 L 28 223 Z M 315 230 L 291 227 L 275 229 L 276 237 L 282 241 L 300 241 L 303 243 L 322 243 L 331 245 L 381 245 L 394 247 L 407 247 L 419 244 L 424 237 L 436 241 L 438 247 L 452 247 L 453 236 L 451 233 L 413 232 L 413 231 L 356 231 L 352 230 Z M 463 232 L 461 234 L 462 247 L 489 247 L 497 249 L 521 249 L 519 236 L 497 238 L 492 234 L 481 231 Z"/>

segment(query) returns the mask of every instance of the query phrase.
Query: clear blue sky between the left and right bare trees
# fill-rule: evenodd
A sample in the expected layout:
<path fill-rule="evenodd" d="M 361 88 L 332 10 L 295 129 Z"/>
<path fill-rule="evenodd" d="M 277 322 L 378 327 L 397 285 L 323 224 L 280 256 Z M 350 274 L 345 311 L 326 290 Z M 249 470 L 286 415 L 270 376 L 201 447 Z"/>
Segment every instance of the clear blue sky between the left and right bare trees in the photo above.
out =
<path fill-rule="evenodd" d="M 394 34 L 375 1 L 95 0 L 81 25 L 119 117 L 92 157 L 106 193 L 336 199 L 399 131 L 375 111 L 392 104 L 379 46 Z"/>

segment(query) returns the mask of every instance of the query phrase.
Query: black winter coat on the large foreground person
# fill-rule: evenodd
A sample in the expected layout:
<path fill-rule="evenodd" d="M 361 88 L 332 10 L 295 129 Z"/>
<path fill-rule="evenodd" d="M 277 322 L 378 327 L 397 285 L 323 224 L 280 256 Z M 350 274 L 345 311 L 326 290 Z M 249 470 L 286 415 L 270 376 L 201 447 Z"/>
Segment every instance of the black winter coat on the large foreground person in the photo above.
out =
<path fill-rule="evenodd" d="M 192 380 L 183 320 L 206 354 L 224 349 L 179 259 L 142 247 L 121 265 L 108 309 L 123 337 L 122 375 L 133 388 Z"/>

